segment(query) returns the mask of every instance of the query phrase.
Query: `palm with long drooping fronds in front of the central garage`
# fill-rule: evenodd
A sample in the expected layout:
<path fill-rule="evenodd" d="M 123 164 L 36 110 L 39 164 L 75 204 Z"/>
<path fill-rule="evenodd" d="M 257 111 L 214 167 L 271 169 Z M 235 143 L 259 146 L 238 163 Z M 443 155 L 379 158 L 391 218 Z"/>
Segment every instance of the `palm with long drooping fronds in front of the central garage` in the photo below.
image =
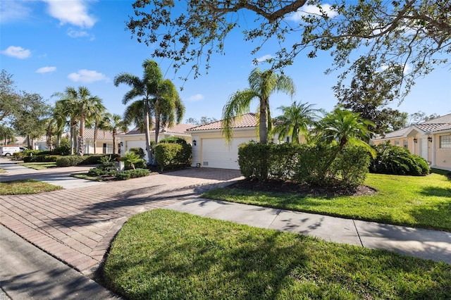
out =
<path fill-rule="evenodd" d="M 249 75 L 249 89 L 237 91 L 232 94 L 223 108 L 223 135 L 230 142 L 233 135 L 233 120 L 240 115 L 249 113 L 249 106 L 253 99 L 259 100 L 259 139 L 266 144 L 268 131 L 271 131 L 272 120 L 269 110 L 269 96 L 273 92 L 285 92 L 292 96 L 295 94 L 295 84 L 285 75 L 273 73 L 273 70 L 261 71 L 255 68 Z"/>

